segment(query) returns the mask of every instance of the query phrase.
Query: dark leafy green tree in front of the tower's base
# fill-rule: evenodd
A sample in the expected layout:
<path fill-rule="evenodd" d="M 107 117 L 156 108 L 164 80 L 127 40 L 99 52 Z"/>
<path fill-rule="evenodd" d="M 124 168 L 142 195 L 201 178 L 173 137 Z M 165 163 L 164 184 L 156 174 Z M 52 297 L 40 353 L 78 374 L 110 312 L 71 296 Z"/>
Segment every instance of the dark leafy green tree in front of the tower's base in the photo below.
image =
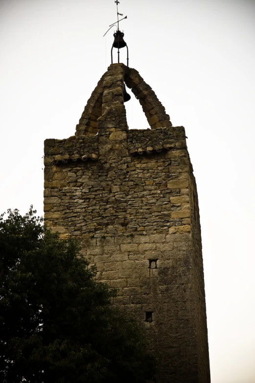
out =
<path fill-rule="evenodd" d="M 0 381 L 142 383 L 154 374 L 143 333 L 111 305 L 75 241 L 30 211 L 0 216 Z"/>

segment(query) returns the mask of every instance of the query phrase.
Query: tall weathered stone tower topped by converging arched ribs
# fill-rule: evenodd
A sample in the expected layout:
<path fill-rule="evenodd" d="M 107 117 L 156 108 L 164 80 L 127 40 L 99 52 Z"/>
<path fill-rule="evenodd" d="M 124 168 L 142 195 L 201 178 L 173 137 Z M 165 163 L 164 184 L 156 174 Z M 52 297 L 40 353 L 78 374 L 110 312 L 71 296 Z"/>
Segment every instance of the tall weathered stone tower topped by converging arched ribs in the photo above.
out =
<path fill-rule="evenodd" d="M 129 130 L 123 85 L 151 129 Z M 159 383 L 209 383 L 198 198 L 185 130 L 135 69 L 112 64 L 76 133 L 45 141 L 45 221 L 81 241 L 159 358 Z"/>

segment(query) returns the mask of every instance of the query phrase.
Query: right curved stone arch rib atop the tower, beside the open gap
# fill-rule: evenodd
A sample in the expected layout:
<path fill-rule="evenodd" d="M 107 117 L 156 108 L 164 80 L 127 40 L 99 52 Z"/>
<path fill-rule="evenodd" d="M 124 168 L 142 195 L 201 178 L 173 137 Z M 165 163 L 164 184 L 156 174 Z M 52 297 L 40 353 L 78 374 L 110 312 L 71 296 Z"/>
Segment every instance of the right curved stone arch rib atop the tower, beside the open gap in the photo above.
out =
<path fill-rule="evenodd" d="M 151 129 L 172 126 L 170 117 L 165 113 L 162 103 L 136 69 L 126 68 L 124 81 L 139 100 Z"/>

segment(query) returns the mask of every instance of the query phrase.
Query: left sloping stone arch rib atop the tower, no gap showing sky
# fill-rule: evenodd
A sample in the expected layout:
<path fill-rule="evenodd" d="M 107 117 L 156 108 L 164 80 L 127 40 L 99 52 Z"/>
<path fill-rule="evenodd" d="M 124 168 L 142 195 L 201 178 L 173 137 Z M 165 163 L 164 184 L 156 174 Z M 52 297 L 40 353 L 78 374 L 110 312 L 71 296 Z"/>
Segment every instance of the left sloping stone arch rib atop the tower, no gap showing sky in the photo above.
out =
<path fill-rule="evenodd" d="M 103 74 L 92 92 L 84 112 L 76 125 L 75 135 L 96 135 L 98 132 L 97 120 L 102 115 L 103 82 L 108 71 Z"/>

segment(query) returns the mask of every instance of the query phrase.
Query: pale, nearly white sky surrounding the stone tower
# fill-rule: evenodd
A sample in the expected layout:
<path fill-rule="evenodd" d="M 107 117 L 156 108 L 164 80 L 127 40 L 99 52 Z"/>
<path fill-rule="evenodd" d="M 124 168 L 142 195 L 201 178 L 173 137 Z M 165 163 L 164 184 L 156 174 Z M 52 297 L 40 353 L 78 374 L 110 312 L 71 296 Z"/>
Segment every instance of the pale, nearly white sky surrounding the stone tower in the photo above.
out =
<path fill-rule="evenodd" d="M 211 382 L 254 383 L 255 1 L 120 0 L 119 12 L 130 67 L 188 136 Z M 74 135 L 115 21 L 114 0 L 0 0 L 0 212 L 43 214 L 44 140 Z M 133 94 L 125 106 L 129 128 L 147 129 Z"/>

